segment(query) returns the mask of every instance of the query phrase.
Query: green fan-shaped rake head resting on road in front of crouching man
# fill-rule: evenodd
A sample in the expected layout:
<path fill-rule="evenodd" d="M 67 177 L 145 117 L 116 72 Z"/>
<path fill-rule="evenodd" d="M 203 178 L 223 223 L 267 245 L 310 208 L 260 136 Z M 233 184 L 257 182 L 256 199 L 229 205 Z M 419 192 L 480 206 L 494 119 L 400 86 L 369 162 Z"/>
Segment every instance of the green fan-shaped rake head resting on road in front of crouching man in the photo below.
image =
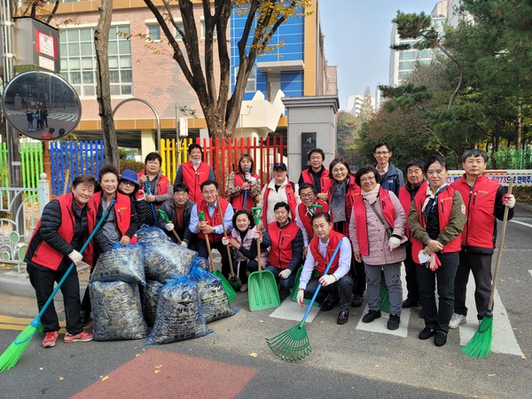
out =
<path fill-rule="evenodd" d="M 271 351 L 287 362 L 296 362 L 312 352 L 305 324 L 294 325 L 273 338 L 267 338 Z"/>

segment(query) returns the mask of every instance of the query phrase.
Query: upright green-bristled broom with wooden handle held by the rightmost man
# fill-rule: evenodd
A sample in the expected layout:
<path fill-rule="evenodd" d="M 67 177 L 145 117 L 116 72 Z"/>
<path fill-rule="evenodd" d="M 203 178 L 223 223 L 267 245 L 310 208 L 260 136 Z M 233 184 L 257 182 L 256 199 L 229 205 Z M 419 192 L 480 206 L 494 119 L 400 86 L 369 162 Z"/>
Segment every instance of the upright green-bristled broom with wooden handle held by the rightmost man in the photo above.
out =
<path fill-rule="evenodd" d="M 512 194 L 513 178 L 510 179 L 508 184 L 508 194 Z M 505 215 L 503 217 L 503 228 L 501 232 L 501 239 L 499 240 L 499 248 L 497 251 L 497 262 L 495 262 L 495 270 L 493 272 L 493 279 L 491 281 L 491 293 L 489 293 L 488 310 L 482 317 L 479 328 L 474 333 L 473 337 L 461 352 L 470 357 L 476 357 L 481 359 L 482 357 L 489 356 L 491 351 L 491 339 L 493 338 L 493 301 L 495 299 L 495 287 L 497 286 L 497 277 L 499 272 L 499 266 L 501 263 L 501 257 L 503 255 L 503 247 L 505 245 L 506 224 L 508 223 L 509 208 L 505 207 Z"/>

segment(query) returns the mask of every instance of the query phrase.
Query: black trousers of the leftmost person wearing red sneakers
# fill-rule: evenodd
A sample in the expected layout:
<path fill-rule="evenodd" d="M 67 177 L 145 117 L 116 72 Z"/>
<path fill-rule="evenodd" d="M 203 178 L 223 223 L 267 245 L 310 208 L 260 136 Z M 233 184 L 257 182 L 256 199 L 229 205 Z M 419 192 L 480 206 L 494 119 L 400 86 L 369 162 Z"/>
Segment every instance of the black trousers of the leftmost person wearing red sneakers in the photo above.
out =
<path fill-rule="evenodd" d="M 55 283 L 59 283 L 69 266 L 70 263 L 63 262 L 59 265 L 58 270 L 51 270 L 42 266 L 27 264 L 27 274 L 29 275 L 31 285 L 35 288 L 39 312 L 50 298 Z M 83 331 L 83 326 L 80 315 L 82 309 L 80 302 L 80 282 L 75 267 L 68 273 L 60 290 L 63 294 L 63 303 L 65 304 L 66 331 L 73 335 L 78 334 Z M 53 301 L 44 310 L 41 323 L 43 324 L 44 332 L 59 331 L 59 318 Z"/>

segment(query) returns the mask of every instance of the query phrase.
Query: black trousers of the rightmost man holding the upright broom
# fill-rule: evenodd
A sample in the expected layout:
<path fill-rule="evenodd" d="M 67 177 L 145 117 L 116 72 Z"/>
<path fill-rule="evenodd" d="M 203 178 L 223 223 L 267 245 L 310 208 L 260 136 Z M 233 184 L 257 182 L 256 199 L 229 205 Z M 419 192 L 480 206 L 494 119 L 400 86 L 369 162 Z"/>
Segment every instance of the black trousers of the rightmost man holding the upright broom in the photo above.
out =
<path fill-rule="evenodd" d="M 460 251 L 457 277 L 455 278 L 455 313 L 467 316 L 465 306 L 465 289 L 469 280 L 469 272 L 473 272 L 474 301 L 477 318 L 481 320 L 488 310 L 489 294 L 491 293 L 491 254 L 471 254 Z M 493 310 L 493 309 L 492 309 Z"/>

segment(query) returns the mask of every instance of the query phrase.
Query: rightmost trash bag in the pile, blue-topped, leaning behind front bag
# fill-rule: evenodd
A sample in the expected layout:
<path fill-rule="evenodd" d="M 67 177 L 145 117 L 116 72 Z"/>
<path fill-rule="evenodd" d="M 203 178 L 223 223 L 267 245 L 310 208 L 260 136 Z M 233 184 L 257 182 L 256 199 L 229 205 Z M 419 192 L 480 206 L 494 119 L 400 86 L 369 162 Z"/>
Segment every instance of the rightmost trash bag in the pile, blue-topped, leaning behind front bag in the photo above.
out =
<path fill-rule="evenodd" d="M 230 317 L 236 313 L 231 308 L 220 278 L 216 278 L 213 274 L 198 267 L 192 268 L 191 278 L 198 284 L 201 311 L 207 323 L 219 318 Z"/>

